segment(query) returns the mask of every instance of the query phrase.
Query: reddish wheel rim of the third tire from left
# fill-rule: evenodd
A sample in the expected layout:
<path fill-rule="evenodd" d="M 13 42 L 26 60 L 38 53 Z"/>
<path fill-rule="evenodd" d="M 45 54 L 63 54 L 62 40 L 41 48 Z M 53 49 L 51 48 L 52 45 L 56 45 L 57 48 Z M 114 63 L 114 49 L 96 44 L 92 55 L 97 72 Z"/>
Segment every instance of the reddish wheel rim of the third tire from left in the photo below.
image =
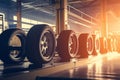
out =
<path fill-rule="evenodd" d="M 69 53 L 71 57 L 76 56 L 76 49 L 77 49 L 77 38 L 75 34 L 72 34 L 69 39 Z"/>

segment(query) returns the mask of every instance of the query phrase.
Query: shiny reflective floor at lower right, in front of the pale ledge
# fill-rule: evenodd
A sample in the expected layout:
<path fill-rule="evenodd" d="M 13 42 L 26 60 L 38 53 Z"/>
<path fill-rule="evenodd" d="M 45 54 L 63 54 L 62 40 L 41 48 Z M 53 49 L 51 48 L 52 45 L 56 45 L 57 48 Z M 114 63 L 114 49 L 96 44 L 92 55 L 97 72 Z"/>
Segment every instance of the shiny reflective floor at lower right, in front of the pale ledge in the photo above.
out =
<path fill-rule="evenodd" d="M 93 57 L 90 58 L 93 59 Z M 87 64 L 54 73 L 48 77 L 120 80 L 120 54 L 108 53 L 95 57 L 93 62 L 90 60 Z"/>

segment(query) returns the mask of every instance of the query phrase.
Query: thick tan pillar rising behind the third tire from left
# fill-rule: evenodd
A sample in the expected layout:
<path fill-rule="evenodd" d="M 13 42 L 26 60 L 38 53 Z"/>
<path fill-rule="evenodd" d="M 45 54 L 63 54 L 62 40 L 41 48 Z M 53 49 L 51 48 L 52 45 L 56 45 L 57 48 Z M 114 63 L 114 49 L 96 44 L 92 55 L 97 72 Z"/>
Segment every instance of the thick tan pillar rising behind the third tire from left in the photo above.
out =
<path fill-rule="evenodd" d="M 67 0 L 56 0 L 56 32 L 66 30 L 68 25 Z"/>

